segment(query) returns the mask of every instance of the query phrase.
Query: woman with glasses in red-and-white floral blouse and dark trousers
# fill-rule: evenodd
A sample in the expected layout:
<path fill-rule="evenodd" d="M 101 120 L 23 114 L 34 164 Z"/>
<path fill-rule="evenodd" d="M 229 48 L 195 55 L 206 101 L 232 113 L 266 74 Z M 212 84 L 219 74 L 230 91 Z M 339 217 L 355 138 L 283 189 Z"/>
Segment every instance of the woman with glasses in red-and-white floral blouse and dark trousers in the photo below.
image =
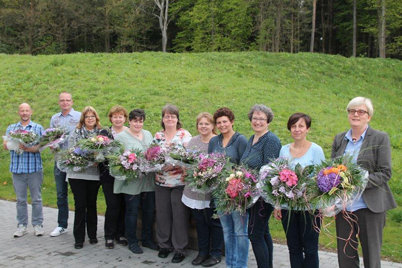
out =
<path fill-rule="evenodd" d="M 153 142 L 160 146 L 187 146 L 191 134 L 182 129 L 179 111 L 168 104 L 162 109 L 162 130 L 155 134 Z M 181 262 L 188 243 L 189 209 L 181 202 L 184 189 L 184 170 L 179 166 L 164 166 L 155 175 L 156 236 L 160 258 L 174 252 L 173 263 Z"/>

